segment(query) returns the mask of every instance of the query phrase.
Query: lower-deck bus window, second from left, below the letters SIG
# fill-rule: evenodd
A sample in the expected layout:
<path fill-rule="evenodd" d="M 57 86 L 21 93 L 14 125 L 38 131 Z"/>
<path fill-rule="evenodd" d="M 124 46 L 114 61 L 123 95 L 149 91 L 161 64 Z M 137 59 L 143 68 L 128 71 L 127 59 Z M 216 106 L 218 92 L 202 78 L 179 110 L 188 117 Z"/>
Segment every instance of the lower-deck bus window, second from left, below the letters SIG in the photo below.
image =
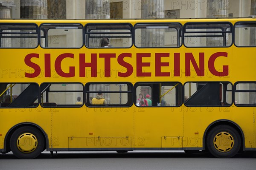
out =
<path fill-rule="evenodd" d="M 81 107 L 84 103 L 81 83 L 42 83 L 41 105 L 44 107 Z"/>

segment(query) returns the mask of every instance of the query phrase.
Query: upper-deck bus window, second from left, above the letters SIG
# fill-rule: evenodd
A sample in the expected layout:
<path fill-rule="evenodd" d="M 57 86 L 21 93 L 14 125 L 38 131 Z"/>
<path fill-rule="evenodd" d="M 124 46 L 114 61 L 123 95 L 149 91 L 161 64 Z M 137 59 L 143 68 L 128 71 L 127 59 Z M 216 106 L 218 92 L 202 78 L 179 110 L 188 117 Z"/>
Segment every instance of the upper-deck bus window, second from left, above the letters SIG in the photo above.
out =
<path fill-rule="evenodd" d="M 81 48 L 83 46 L 83 26 L 81 24 L 42 24 L 41 47 Z"/>

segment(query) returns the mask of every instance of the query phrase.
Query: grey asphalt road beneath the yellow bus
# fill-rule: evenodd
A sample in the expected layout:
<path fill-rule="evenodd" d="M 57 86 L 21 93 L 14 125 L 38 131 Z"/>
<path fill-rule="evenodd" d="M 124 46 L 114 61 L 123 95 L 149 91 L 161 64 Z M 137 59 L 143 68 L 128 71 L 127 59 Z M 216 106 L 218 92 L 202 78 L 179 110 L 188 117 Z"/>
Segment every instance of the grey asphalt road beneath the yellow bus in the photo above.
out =
<path fill-rule="evenodd" d="M 256 170 L 256 153 L 217 159 L 209 153 L 183 151 L 59 152 L 37 159 L 0 154 L 0 170 Z"/>

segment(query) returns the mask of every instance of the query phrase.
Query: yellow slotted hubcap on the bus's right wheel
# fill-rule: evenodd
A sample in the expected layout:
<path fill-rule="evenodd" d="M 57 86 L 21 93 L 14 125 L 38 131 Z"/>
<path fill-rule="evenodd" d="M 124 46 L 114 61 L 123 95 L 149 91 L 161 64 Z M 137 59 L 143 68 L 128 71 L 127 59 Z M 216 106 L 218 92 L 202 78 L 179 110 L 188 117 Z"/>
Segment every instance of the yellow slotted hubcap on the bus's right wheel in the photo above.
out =
<path fill-rule="evenodd" d="M 234 138 L 228 132 L 220 132 L 213 138 L 213 144 L 216 150 L 220 152 L 228 152 L 234 146 Z"/>

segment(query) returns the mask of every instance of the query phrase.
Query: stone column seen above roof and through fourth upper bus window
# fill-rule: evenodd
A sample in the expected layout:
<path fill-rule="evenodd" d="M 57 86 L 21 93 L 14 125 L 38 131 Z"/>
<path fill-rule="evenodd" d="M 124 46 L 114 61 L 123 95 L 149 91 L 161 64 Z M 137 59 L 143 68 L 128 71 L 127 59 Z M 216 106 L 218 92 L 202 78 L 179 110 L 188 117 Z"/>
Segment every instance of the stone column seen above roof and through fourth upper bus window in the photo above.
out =
<path fill-rule="evenodd" d="M 164 1 L 163 0 L 142 0 L 141 18 L 156 19 L 164 18 Z M 141 31 L 142 47 L 163 47 L 164 46 L 164 29 L 143 29 Z"/>

